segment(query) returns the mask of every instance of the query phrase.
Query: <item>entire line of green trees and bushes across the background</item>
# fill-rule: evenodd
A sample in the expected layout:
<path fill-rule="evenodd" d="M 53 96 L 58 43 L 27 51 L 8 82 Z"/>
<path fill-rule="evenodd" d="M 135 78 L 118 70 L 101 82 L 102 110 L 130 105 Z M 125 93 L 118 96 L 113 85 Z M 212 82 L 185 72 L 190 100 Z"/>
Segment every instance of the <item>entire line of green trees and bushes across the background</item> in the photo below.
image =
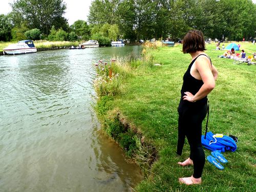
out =
<path fill-rule="evenodd" d="M 251 0 L 94 0 L 88 23 L 69 26 L 63 0 L 16 0 L 0 15 L 0 40 L 182 39 L 189 29 L 206 38 L 250 40 L 256 32 Z"/>

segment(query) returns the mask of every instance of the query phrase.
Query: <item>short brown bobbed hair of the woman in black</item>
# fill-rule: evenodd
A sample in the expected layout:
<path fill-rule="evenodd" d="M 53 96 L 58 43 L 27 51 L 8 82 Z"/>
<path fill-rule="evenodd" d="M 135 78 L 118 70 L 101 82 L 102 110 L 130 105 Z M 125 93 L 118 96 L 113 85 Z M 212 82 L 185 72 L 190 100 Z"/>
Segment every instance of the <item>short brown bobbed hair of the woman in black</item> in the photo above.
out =
<path fill-rule="evenodd" d="M 195 53 L 197 51 L 204 51 L 205 42 L 204 35 L 199 30 L 189 30 L 183 38 L 183 53 Z"/>

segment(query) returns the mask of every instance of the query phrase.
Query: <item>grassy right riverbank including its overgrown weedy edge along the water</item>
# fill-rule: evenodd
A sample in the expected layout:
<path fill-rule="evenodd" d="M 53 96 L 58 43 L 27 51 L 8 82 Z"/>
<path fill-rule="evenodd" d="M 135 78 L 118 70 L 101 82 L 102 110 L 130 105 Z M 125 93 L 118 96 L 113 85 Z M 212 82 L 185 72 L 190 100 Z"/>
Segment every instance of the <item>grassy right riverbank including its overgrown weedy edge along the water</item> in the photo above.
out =
<path fill-rule="evenodd" d="M 256 46 L 242 44 L 241 48 L 249 55 Z M 133 154 L 143 175 L 147 175 L 137 191 L 254 191 L 256 68 L 246 63 L 233 65 L 231 59 L 218 58 L 223 51 L 214 50 L 213 44 L 207 45 L 206 53 L 217 67 L 219 78 L 215 90 L 208 96 L 208 130 L 237 136 L 238 149 L 234 153 L 224 153 L 229 161 L 224 170 L 206 161 L 201 185 L 179 184 L 179 177 L 189 177 L 193 173 L 193 167 L 177 164 L 189 155 L 187 143 L 182 156 L 176 155 L 177 106 L 182 76 L 190 62 L 190 56 L 183 54 L 181 49 L 181 45 L 148 49 L 144 51 L 143 61 L 129 58 L 126 62 L 116 61 L 111 68 L 104 67 L 105 77 L 119 75 L 112 80 L 98 79 L 97 82 L 105 83 L 103 86 L 96 83 L 99 95 L 96 111 L 103 129 L 129 155 Z M 161 66 L 153 66 L 154 63 Z M 98 72 L 102 77 L 104 71 Z M 205 121 L 203 131 L 204 126 Z M 205 154 L 210 155 L 210 151 L 205 150 Z M 151 157 L 157 158 L 153 164 Z"/>

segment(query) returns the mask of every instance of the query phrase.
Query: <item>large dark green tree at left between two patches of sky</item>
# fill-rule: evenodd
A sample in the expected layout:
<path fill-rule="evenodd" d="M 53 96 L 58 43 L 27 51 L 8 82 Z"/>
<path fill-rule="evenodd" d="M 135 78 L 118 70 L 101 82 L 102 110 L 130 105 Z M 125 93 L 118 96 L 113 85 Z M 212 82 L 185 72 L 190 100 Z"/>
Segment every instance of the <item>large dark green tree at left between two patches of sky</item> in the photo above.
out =
<path fill-rule="evenodd" d="M 63 17 L 66 4 L 63 0 L 16 0 L 10 4 L 12 7 L 13 22 L 20 26 L 24 20 L 30 29 L 40 29 L 49 34 L 50 28 L 67 28 L 67 19 Z"/>

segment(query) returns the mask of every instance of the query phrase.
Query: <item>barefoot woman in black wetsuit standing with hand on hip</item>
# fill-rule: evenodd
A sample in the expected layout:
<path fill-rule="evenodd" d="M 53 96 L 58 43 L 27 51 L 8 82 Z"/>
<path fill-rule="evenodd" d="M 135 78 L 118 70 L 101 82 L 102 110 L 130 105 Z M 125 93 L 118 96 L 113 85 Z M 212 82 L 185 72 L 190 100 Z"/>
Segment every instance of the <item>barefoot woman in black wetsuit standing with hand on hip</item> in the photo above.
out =
<path fill-rule="evenodd" d="M 177 154 L 181 155 L 185 136 L 190 146 L 189 158 L 178 162 L 182 166 L 194 165 L 191 177 L 179 178 L 181 183 L 200 184 L 205 163 L 201 143 L 202 121 L 207 114 L 207 95 L 215 88 L 217 69 L 205 54 L 203 33 L 190 30 L 183 39 L 183 53 L 191 55 L 191 63 L 183 76 L 181 99 L 178 107 L 178 145 Z"/>

